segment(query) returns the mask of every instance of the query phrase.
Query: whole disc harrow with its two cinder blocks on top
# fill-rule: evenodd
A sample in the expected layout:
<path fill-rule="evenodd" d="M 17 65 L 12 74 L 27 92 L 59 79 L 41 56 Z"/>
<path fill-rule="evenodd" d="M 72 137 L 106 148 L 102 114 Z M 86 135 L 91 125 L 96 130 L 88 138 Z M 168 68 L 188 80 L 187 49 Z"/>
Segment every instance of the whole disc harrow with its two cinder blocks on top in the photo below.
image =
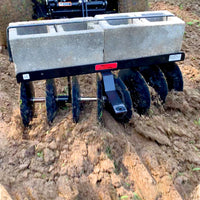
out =
<path fill-rule="evenodd" d="M 175 24 L 178 28 L 174 31 Z M 166 41 L 155 36 L 160 27 L 168 30 L 165 36 L 160 33 L 160 38 Z M 148 37 L 141 32 L 143 29 Z M 10 60 L 16 65 L 17 81 L 21 83 L 23 124 L 28 126 L 31 122 L 36 102 L 46 103 L 49 123 L 66 103 L 72 104 L 73 121 L 77 123 L 85 101 L 97 101 L 100 122 L 104 108 L 121 123 L 127 123 L 133 111 L 140 115 L 148 113 L 149 86 L 163 103 L 168 91 L 183 90 L 182 74 L 176 64 L 185 58 L 180 51 L 183 33 L 184 22 L 167 11 L 11 24 L 7 29 L 8 50 Z M 20 41 L 26 51 L 19 48 Z M 167 43 L 171 45 L 169 48 Z M 49 55 L 49 49 L 56 49 L 57 55 Z M 21 59 L 21 53 L 25 59 Z M 113 74 L 114 70 L 119 72 Z M 81 96 L 78 75 L 89 73 L 97 74 L 95 97 Z M 59 77 L 68 79 L 66 95 L 57 95 L 54 78 Z M 46 97 L 34 96 L 35 80 L 46 80 Z"/>

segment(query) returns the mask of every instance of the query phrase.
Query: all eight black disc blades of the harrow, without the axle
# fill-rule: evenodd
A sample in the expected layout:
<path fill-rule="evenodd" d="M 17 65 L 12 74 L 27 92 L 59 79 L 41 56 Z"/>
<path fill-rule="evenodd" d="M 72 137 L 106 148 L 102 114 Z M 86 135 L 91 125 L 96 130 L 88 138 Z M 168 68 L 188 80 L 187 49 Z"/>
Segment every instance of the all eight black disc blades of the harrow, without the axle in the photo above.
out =
<path fill-rule="evenodd" d="M 138 67 L 134 69 L 120 70 L 118 76 L 114 75 L 116 91 L 125 105 L 127 112 L 115 114 L 111 103 L 106 98 L 102 78 L 97 74 L 97 118 L 102 119 L 103 108 L 109 110 L 113 117 L 126 123 L 132 117 L 132 110 L 140 115 L 147 113 L 151 104 L 149 86 L 160 97 L 161 102 L 165 102 L 168 91 L 183 90 L 183 78 L 176 63 Z M 72 113 L 74 122 L 78 122 L 80 115 L 80 87 L 76 76 L 72 77 Z M 32 82 L 22 82 L 20 91 L 20 110 L 23 124 L 29 125 L 34 113 L 34 89 Z M 53 79 L 46 80 L 46 110 L 47 120 L 52 122 L 56 116 L 59 102 L 56 101 L 56 87 Z"/>

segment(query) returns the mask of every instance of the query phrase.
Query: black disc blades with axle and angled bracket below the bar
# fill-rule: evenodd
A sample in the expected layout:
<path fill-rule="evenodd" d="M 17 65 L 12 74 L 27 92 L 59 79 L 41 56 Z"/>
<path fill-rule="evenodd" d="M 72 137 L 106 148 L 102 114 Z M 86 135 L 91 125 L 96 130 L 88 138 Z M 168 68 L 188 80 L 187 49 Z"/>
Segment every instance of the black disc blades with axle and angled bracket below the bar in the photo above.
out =
<path fill-rule="evenodd" d="M 53 122 L 59 107 L 66 105 L 66 103 L 72 103 L 73 121 L 78 123 L 81 103 L 85 101 L 97 101 L 97 119 L 99 122 L 102 121 L 103 108 L 105 108 L 117 121 L 127 123 L 132 117 L 132 110 L 142 115 L 146 114 L 150 108 L 151 97 L 146 81 L 151 81 L 150 83 L 148 82 L 149 85 L 155 88 L 158 95 L 162 95 L 161 100 L 163 101 L 167 96 L 168 85 L 170 85 L 170 90 L 182 91 L 183 79 L 181 71 L 175 63 L 172 63 L 170 66 L 172 70 L 167 71 L 168 73 L 166 70 L 165 73 L 161 71 L 160 68 L 163 68 L 164 65 L 160 68 L 154 66 L 157 72 L 159 72 L 155 77 L 152 77 L 152 73 L 149 73 L 149 76 L 147 73 L 151 70 L 155 72 L 155 68 L 152 67 L 145 67 L 142 70 L 140 67 L 138 67 L 138 70 L 120 70 L 118 76 L 115 76 L 109 71 L 101 74 L 98 73 L 96 76 L 96 97 L 80 96 L 80 86 L 76 76 L 72 77 L 72 83 L 71 79 L 68 77 L 68 95 L 62 96 L 56 95 L 54 79 L 46 80 L 46 98 L 35 98 L 32 82 L 22 82 L 20 111 L 23 124 L 28 126 L 29 122 L 32 120 L 34 103 L 36 102 L 46 102 L 47 121 L 49 123 Z M 139 70 L 141 70 L 141 72 Z M 143 77 L 144 70 L 146 73 L 145 78 Z M 166 73 L 167 76 L 165 77 L 164 74 Z M 172 78 L 169 78 L 170 73 L 173 73 Z"/>

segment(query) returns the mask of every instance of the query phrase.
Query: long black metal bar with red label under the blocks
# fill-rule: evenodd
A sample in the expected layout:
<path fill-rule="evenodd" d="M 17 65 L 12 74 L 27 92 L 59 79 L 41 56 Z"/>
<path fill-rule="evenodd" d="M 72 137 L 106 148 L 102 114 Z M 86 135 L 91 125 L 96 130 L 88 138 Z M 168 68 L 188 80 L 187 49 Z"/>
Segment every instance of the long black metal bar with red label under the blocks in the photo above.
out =
<path fill-rule="evenodd" d="M 180 60 L 169 61 L 170 55 L 178 55 L 178 54 L 181 55 Z M 185 59 L 185 54 L 183 52 L 177 52 L 177 53 L 165 54 L 165 55 L 159 55 L 159 56 L 135 58 L 135 59 L 130 59 L 130 60 L 119 60 L 119 61 L 113 61 L 115 63 L 117 62 L 117 68 L 112 69 L 112 70 L 137 68 L 137 67 L 142 67 L 142 66 L 150 66 L 150 65 L 163 64 L 163 63 L 169 63 L 169 62 L 175 62 L 175 61 L 182 61 L 184 59 Z M 112 63 L 112 62 L 109 62 L 109 63 Z M 18 73 L 16 78 L 17 78 L 17 82 L 19 83 L 19 82 L 25 82 L 25 81 L 44 80 L 44 79 L 51 79 L 51 78 L 111 71 L 110 69 L 96 70 L 95 66 L 98 64 L 102 64 L 102 63 L 94 63 L 90 65 L 81 65 L 81 66 L 73 66 L 73 67 L 63 67 L 63 68 L 49 69 L 49 70 L 23 72 L 23 73 Z M 26 74 L 29 75 L 30 79 L 28 80 L 23 79 L 23 75 L 26 75 Z"/>

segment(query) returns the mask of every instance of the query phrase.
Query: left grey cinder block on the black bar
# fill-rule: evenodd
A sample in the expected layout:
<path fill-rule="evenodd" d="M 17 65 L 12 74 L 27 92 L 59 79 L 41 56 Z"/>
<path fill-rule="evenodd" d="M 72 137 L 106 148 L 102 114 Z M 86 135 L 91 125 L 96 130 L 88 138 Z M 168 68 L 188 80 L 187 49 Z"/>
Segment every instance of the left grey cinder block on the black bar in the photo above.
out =
<path fill-rule="evenodd" d="M 9 41 L 16 74 L 103 62 L 104 32 L 93 18 L 12 23 Z M 44 23 L 62 25 L 43 25 Z M 72 22 L 69 24 L 69 22 Z"/>

